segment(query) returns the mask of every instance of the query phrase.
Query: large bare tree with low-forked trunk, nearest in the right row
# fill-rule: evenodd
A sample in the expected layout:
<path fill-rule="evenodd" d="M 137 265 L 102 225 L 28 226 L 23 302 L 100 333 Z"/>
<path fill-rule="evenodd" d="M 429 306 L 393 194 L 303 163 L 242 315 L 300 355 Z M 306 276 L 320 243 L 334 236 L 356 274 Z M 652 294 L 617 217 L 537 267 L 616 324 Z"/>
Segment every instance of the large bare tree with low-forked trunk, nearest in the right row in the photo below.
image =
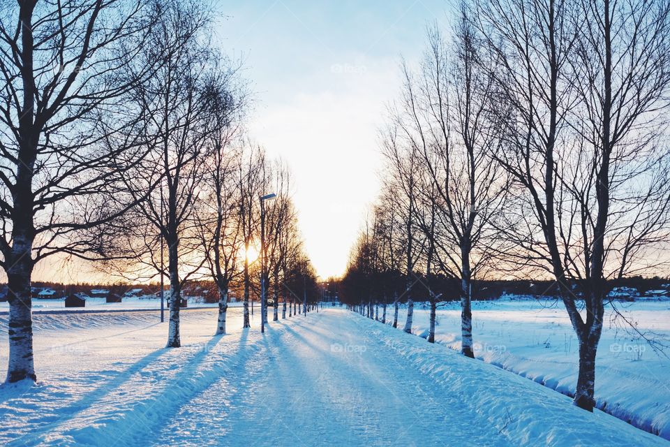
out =
<path fill-rule="evenodd" d="M 669 3 L 482 1 L 478 16 L 506 115 L 496 158 L 521 192 L 511 238 L 556 278 L 579 339 L 574 404 L 591 411 L 606 280 L 668 240 Z"/>

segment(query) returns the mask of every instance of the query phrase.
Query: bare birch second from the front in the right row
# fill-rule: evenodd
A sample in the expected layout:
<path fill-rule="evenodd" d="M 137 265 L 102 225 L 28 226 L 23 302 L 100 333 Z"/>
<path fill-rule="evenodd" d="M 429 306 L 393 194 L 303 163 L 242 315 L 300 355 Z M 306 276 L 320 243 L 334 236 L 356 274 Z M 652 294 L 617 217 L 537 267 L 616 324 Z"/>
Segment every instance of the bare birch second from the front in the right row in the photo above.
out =
<path fill-rule="evenodd" d="M 481 45 L 468 14 L 462 4 L 451 59 L 439 31 L 429 29 L 429 51 L 418 75 L 404 70 L 403 107 L 396 122 L 422 156 L 423 170 L 415 172 L 426 177 L 419 188 L 428 207 L 428 219 L 419 219 L 429 239 L 426 278 L 435 263 L 461 282 L 461 351 L 474 357 L 472 281 L 493 254 L 497 232 L 492 221 L 500 214 L 507 184 L 489 156 L 498 144 L 489 118 L 493 82 L 482 69 Z M 435 299 L 429 295 L 434 315 Z"/>

